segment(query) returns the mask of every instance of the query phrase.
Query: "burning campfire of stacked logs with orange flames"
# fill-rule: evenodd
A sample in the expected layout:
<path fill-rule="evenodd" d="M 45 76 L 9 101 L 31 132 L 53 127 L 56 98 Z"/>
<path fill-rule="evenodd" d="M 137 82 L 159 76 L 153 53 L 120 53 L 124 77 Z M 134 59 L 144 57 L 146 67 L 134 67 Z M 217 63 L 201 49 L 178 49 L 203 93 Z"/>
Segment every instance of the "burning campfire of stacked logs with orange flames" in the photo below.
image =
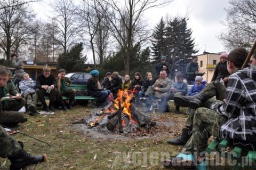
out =
<path fill-rule="evenodd" d="M 133 104 L 133 91 L 119 90 L 117 98 L 99 113 L 86 120 L 90 128 L 105 128 L 119 133 L 133 132 L 141 127 L 150 129 L 156 123 Z"/>

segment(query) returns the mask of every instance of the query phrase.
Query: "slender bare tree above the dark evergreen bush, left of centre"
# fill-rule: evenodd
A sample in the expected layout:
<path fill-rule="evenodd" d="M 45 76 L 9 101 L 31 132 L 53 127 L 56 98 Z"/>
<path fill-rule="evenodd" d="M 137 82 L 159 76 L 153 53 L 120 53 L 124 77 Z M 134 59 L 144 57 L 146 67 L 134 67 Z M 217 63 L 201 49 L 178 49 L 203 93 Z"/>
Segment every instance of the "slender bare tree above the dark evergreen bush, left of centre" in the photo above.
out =
<path fill-rule="evenodd" d="M 64 53 L 66 53 L 70 45 L 75 43 L 80 27 L 76 22 L 76 15 L 71 0 L 55 1 L 53 8 L 55 17 L 52 19 L 57 23 L 54 37 L 63 47 Z"/>

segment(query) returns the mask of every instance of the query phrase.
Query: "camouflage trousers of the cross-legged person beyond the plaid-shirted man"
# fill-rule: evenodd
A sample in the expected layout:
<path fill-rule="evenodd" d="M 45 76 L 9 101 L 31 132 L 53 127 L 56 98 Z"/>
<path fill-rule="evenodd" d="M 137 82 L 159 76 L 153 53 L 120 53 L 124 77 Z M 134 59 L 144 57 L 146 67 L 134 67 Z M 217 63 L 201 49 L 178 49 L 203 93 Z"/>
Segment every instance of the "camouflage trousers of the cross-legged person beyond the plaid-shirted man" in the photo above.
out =
<path fill-rule="evenodd" d="M 203 102 L 203 107 L 210 108 L 212 103 L 222 102 L 223 99 L 226 98 L 226 87 L 216 80 L 207 85 L 200 93 L 204 93 L 206 95 L 206 100 Z M 217 100 L 213 99 L 214 96 L 216 96 Z M 193 128 L 194 115 L 195 109 L 191 109 L 185 124 L 186 128 Z"/>

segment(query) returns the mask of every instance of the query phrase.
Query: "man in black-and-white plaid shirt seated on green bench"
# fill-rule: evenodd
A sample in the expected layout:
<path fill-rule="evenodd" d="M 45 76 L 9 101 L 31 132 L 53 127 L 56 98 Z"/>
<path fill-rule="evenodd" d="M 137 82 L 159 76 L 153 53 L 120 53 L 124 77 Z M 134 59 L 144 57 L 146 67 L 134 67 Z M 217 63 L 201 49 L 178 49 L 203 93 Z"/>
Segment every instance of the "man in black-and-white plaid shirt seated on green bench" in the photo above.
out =
<path fill-rule="evenodd" d="M 249 64 L 247 68 L 239 70 L 246 56 L 244 48 L 235 48 L 229 53 L 227 67 L 233 75 L 228 78 L 226 99 L 211 103 L 211 109 L 201 107 L 196 110 L 193 135 L 177 157 L 162 161 L 165 167 L 191 168 L 197 165 L 198 169 L 206 169 L 204 151 L 211 135 L 255 145 L 256 67 Z"/>

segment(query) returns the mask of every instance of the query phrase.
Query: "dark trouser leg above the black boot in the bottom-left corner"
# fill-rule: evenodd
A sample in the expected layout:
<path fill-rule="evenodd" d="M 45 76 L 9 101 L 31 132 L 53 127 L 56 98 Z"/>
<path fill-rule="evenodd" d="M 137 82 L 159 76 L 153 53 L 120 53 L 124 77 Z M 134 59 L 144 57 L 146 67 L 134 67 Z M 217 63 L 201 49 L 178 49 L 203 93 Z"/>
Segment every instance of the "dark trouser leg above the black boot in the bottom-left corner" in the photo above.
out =
<path fill-rule="evenodd" d="M 16 155 L 21 150 L 19 143 L 8 135 L 2 126 L 0 126 L 0 148 L 0 157 L 2 158 Z"/>

